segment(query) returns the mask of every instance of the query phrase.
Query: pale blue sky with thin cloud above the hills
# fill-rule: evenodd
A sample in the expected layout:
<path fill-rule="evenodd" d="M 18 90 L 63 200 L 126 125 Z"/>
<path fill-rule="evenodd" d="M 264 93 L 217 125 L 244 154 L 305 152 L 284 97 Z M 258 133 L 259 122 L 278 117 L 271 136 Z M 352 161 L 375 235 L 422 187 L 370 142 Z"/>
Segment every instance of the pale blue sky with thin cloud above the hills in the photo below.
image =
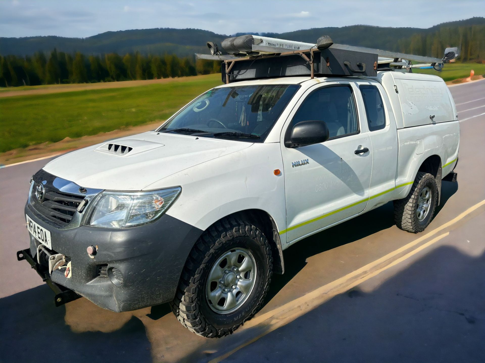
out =
<path fill-rule="evenodd" d="M 429 28 L 472 16 L 485 16 L 485 0 L 0 0 L 0 36 L 84 38 L 149 28 L 230 35 L 355 24 Z"/>

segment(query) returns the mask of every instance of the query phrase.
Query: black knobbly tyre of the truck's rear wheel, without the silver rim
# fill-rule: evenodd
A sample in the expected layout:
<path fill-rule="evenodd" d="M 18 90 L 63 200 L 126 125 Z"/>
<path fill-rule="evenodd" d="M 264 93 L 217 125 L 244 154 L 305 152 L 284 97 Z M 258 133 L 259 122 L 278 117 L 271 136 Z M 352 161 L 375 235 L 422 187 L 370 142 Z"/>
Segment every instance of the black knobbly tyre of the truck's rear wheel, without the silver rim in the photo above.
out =
<path fill-rule="evenodd" d="M 422 220 L 418 220 L 416 209 L 418 207 L 418 198 L 424 187 L 431 190 L 431 205 L 428 214 Z M 404 231 L 411 233 L 422 232 L 433 219 L 436 209 L 436 198 L 438 195 L 438 187 L 436 185 L 435 177 L 429 173 L 418 172 L 413 186 L 407 197 L 404 199 L 394 200 L 394 220 L 396 226 Z"/>

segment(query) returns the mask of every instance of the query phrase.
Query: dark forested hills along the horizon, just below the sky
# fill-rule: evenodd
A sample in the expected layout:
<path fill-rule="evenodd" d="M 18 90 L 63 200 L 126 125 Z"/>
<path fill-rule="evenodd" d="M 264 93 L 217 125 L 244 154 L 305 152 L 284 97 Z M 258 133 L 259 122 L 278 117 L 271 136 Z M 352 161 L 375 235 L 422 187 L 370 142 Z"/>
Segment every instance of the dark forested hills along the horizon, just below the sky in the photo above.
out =
<path fill-rule="evenodd" d="M 464 59 L 485 59 L 484 17 L 442 23 L 428 29 L 353 25 L 260 35 L 311 43 L 323 34 L 330 35 L 335 43 L 414 52 L 429 56 L 440 56 L 446 46 L 461 45 Z M 210 40 L 220 44 L 228 36 L 200 29 L 155 28 L 108 31 L 87 38 L 0 37 L 0 54 L 26 56 L 39 50 L 50 52 L 53 48 L 57 48 L 58 51 L 67 53 L 80 51 L 84 54 L 111 52 L 126 54 L 138 51 L 141 54 L 168 53 L 185 57 L 194 53 L 207 53 L 205 42 Z"/>

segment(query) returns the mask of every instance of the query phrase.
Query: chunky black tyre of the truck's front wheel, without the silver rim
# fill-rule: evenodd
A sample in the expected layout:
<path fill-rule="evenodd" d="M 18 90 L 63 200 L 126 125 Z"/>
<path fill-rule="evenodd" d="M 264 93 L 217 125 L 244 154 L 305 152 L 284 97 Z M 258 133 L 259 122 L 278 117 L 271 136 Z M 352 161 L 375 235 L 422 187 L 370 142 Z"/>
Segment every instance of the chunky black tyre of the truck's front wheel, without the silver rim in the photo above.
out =
<path fill-rule="evenodd" d="M 206 282 L 214 262 L 231 248 L 249 250 L 256 260 L 256 283 L 247 300 L 234 312 L 217 314 L 206 299 Z M 264 234 L 250 223 L 225 218 L 210 227 L 195 243 L 170 303 L 178 321 L 205 337 L 231 334 L 261 308 L 273 273 L 271 246 Z"/>

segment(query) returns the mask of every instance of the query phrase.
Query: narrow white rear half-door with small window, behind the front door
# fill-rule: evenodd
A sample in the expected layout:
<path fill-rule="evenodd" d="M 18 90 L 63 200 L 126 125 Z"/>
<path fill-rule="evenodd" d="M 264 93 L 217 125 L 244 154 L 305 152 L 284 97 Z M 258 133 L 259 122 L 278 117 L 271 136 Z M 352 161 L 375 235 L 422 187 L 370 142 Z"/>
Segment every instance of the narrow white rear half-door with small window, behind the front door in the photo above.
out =
<path fill-rule="evenodd" d="M 362 95 L 365 118 L 372 144 L 370 200 L 366 210 L 387 203 L 396 187 L 398 139 L 396 121 L 388 95 L 380 83 L 356 81 Z"/>

